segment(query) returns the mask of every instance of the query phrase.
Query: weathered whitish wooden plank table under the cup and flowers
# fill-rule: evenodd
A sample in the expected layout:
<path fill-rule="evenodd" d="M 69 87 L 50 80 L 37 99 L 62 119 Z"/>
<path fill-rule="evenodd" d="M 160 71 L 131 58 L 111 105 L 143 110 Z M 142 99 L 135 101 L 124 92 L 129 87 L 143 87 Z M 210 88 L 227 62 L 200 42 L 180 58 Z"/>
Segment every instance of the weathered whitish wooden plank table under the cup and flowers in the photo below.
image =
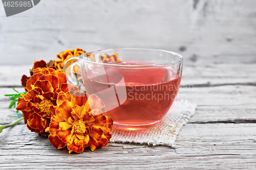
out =
<path fill-rule="evenodd" d="M 234 62 L 230 62 L 234 61 Z M 197 109 L 176 140 L 177 149 L 146 144 L 109 143 L 80 154 L 56 150 L 48 139 L 24 123 L 0 134 L 1 169 L 247 169 L 256 167 L 256 63 L 254 57 L 229 57 L 224 62 L 185 64 L 178 99 Z M 230 64 L 233 63 L 233 64 Z M 23 91 L 20 78 L 31 65 L 0 66 L 0 124 L 13 122 L 12 87 Z"/>

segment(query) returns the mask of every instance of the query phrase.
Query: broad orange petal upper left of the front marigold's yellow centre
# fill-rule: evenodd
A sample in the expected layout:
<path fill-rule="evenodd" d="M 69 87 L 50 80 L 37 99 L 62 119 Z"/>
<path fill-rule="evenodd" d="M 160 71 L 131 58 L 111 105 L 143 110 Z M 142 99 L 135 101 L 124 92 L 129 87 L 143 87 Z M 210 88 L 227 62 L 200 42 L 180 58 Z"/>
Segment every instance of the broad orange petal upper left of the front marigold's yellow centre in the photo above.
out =
<path fill-rule="evenodd" d="M 71 116 L 72 105 L 69 101 L 64 101 L 56 109 L 56 115 L 65 118 L 65 120 Z"/>

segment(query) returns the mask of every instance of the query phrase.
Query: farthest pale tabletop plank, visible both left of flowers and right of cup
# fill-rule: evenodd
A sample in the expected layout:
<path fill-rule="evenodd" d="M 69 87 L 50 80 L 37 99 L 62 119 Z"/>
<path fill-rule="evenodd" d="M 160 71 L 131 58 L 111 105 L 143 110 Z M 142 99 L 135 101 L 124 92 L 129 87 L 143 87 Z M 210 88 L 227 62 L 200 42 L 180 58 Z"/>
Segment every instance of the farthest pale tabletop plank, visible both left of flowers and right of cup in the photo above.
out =
<path fill-rule="evenodd" d="M 31 65 L 3 65 L 0 69 L 0 87 L 21 86 L 20 79 L 29 76 Z M 256 85 L 256 64 L 184 65 L 181 85 L 218 86 L 228 84 Z"/>

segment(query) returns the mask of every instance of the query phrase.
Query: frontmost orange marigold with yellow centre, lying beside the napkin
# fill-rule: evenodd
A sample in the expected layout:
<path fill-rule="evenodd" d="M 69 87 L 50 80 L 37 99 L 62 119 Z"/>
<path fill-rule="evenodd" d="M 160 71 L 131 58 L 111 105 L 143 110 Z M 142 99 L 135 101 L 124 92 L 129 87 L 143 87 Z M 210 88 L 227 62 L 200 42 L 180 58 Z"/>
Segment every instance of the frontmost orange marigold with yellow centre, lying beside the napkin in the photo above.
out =
<path fill-rule="evenodd" d="M 69 153 L 105 147 L 110 141 L 112 118 L 104 115 L 102 100 L 92 94 L 62 93 L 57 99 L 56 115 L 51 119 L 49 140 L 57 148 L 67 146 Z"/>

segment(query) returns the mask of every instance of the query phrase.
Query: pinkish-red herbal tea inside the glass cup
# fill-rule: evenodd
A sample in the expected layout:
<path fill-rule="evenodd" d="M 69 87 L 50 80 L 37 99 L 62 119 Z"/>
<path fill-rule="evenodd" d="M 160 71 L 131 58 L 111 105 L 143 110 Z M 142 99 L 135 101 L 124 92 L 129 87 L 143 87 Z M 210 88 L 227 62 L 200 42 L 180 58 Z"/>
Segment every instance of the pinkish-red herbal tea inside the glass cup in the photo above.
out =
<path fill-rule="evenodd" d="M 136 62 L 120 64 L 145 65 Z M 126 89 L 127 99 L 124 102 L 120 102 L 119 99 L 118 107 L 105 112 L 105 115 L 113 118 L 116 128 L 137 130 L 145 125 L 158 122 L 172 106 L 181 81 L 181 77 L 176 77 L 175 71 L 170 67 L 139 69 L 104 67 L 104 69 L 106 80 L 103 76 L 99 76 L 97 79 L 92 78 L 90 83 L 84 83 L 84 87 L 89 94 L 104 91 L 104 89 L 112 87 L 113 84 L 115 86 L 115 83 L 118 82 L 115 79 L 119 79 L 120 75 L 123 77 L 124 83 L 115 88 L 115 96 L 108 95 L 105 99 L 102 97 L 106 107 L 112 106 L 116 101 L 115 98 L 118 99 L 117 89 L 121 87 Z M 118 75 L 114 75 L 117 73 Z M 110 77 L 112 77 L 111 81 Z"/>

